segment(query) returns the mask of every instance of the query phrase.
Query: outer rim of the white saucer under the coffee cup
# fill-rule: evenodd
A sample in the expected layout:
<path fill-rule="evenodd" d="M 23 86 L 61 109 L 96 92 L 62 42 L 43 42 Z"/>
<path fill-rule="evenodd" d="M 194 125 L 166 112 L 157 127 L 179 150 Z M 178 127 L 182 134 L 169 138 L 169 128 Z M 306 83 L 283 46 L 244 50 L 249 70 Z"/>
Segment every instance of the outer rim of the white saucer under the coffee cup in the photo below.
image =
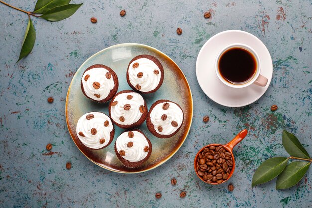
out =
<path fill-rule="evenodd" d="M 216 36 L 219 36 L 219 35 L 222 35 L 223 33 L 230 33 L 230 32 L 244 33 L 244 34 L 250 35 L 250 36 L 252 36 L 252 37 L 254 37 L 254 38 L 256 38 L 256 39 L 258 39 L 258 40 L 260 41 L 260 44 L 267 50 L 267 52 L 268 52 L 268 54 L 269 54 L 270 63 L 271 63 L 271 64 L 270 64 L 270 65 L 271 65 L 270 68 L 272 68 L 272 75 L 273 75 L 273 62 L 272 62 L 272 57 L 271 57 L 270 51 L 269 51 L 268 48 L 265 46 L 265 44 L 264 44 L 258 37 L 256 37 L 255 35 L 253 35 L 253 34 L 251 34 L 251 33 L 249 33 L 249 32 L 243 31 L 243 30 L 235 30 L 235 29 L 233 29 L 233 30 L 225 30 L 225 31 L 219 32 L 219 33 L 213 35 L 212 37 L 210 37 L 210 38 L 205 42 L 205 44 L 201 47 L 201 49 L 200 49 L 200 51 L 199 51 L 199 53 L 198 53 L 198 55 L 197 55 L 197 59 L 196 59 L 196 78 L 197 78 L 197 82 L 198 82 L 198 84 L 199 84 L 201 90 L 205 93 L 205 95 L 206 95 L 209 99 L 211 99 L 213 102 L 215 102 L 215 103 L 217 103 L 217 104 L 219 104 L 219 105 L 222 105 L 222 106 L 225 106 L 225 107 L 231 107 L 231 108 L 239 108 L 239 107 L 244 107 L 244 106 L 250 105 L 250 104 L 256 102 L 257 100 L 259 100 L 259 99 L 264 95 L 264 93 L 266 93 L 266 91 L 268 90 L 268 88 L 269 88 L 269 86 L 270 86 L 270 83 L 271 83 L 271 81 L 272 81 L 272 75 L 271 75 L 271 78 L 268 79 L 269 84 L 268 84 L 268 86 L 266 87 L 266 89 L 263 91 L 263 93 L 260 93 L 259 96 L 258 96 L 256 99 L 254 99 L 254 100 L 252 100 L 252 101 L 250 101 L 250 102 L 248 102 L 248 103 L 244 103 L 244 104 L 242 104 L 242 105 L 230 105 L 230 104 L 224 104 L 224 103 L 221 104 L 220 102 L 217 102 L 215 99 L 212 99 L 211 97 L 209 97 L 209 95 L 206 94 L 206 92 L 203 90 L 203 87 L 202 87 L 201 83 L 200 83 L 199 80 L 198 80 L 198 67 L 199 67 L 199 66 L 198 66 L 198 65 L 199 65 L 198 62 L 199 62 L 199 57 L 200 57 L 202 51 L 204 50 L 204 48 L 206 47 L 206 45 L 209 43 L 209 41 L 211 41 L 212 38 L 214 38 L 214 37 L 216 37 Z"/>

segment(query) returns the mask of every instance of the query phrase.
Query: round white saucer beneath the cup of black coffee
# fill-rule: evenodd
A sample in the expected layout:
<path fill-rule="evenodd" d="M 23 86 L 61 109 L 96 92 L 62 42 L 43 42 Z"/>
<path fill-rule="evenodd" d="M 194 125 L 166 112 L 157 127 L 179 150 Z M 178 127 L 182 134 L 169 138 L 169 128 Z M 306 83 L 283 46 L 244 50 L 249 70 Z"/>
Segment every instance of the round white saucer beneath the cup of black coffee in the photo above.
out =
<path fill-rule="evenodd" d="M 260 74 L 268 79 L 265 87 L 251 84 L 244 88 L 231 88 L 219 80 L 214 69 L 216 56 L 233 43 L 249 45 L 258 53 Z M 199 51 L 196 61 L 196 76 L 201 89 L 211 100 L 228 107 L 241 107 L 258 100 L 268 89 L 272 73 L 272 59 L 266 46 L 256 36 L 240 30 L 227 30 L 211 37 Z"/>

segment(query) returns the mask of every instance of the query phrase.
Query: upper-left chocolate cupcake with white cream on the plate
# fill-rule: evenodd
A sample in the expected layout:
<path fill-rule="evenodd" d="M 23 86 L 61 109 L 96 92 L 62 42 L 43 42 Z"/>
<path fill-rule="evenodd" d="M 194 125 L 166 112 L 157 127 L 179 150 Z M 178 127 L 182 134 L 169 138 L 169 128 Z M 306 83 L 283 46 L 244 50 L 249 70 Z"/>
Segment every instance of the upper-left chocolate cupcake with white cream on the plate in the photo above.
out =
<path fill-rule="evenodd" d="M 117 89 L 118 78 L 110 67 L 96 64 L 83 72 L 81 90 L 87 98 L 99 103 L 105 103 L 112 99 Z"/>

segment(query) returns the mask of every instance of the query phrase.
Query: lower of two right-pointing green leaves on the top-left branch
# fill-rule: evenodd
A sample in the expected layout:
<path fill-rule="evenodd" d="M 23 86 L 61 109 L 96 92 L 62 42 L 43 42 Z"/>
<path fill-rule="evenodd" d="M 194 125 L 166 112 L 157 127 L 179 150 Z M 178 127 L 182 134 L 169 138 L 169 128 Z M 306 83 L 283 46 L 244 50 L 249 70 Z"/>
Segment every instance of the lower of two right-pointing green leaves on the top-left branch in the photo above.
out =
<path fill-rule="evenodd" d="M 73 15 L 81 5 L 82 3 L 58 6 L 47 11 L 41 15 L 40 18 L 46 19 L 48 21 L 60 21 Z"/>

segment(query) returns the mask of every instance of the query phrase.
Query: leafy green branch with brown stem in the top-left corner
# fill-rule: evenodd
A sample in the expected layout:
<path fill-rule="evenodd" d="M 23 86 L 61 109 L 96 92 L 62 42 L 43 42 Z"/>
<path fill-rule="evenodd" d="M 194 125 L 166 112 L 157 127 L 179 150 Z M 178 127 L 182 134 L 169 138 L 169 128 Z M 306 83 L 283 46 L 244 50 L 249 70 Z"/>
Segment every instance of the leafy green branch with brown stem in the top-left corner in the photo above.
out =
<path fill-rule="evenodd" d="M 66 19 L 73 15 L 82 5 L 82 3 L 69 4 L 70 1 L 71 0 L 38 0 L 34 11 L 30 12 L 17 8 L 0 0 L 0 3 L 18 11 L 24 12 L 28 15 L 28 24 L 18 61 L 20 61 L 23 57 L 27 56 L 32 51 L 32 48 L 35 44 L 36 31 L 32 24 L 30 16 L 42 18 L 48 21 L 60 21 Z"/>

